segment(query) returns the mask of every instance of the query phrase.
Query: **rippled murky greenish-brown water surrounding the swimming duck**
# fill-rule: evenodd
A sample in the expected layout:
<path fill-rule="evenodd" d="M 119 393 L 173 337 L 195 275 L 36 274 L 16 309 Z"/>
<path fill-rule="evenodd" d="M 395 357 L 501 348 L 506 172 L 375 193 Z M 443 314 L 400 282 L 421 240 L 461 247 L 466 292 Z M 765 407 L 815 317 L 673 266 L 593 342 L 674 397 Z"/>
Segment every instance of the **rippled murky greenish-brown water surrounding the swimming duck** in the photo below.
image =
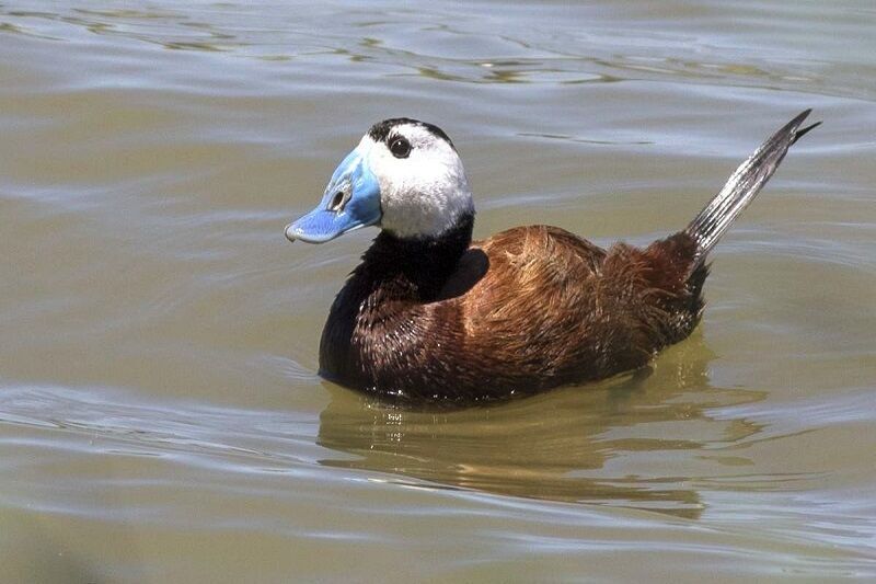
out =
<path fill-rule="evenodd" d="M 0 4 L 0 580 L 876 576 L 869 2 Z M 373 231 L 286 222 L 379 119 L 476 236 L 683 226 L 800 110 L 648 371 L 453 413 L 316 377 Z"/>

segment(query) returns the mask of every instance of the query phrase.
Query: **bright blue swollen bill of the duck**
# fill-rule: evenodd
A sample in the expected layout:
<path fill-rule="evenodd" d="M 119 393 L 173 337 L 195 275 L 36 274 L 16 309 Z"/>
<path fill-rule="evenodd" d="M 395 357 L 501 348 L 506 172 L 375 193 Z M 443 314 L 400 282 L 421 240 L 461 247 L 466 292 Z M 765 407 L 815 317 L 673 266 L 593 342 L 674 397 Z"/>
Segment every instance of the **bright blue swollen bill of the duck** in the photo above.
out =
<path fill-rule="evenodd" d="M 341 162 L 315 209 L 286 226 L 289 241 L 324 243 L 380 222 L 380 184 L 360 145 Z"/>

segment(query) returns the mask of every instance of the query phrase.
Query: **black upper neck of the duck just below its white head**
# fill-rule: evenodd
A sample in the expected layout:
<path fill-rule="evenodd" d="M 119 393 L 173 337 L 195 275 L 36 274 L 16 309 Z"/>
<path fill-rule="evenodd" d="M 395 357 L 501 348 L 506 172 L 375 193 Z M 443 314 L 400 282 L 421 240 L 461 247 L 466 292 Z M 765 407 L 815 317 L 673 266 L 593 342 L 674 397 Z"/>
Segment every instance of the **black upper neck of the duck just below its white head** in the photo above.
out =
<path fill-rule="evenodd" d="M 381 231 L 355 277 L 368 280 L 368 287 L 387 288 L 397 299 L 434 300 L 469 248 L 473 227 L 474 216 L 464 215 L 436 238 L 399 238 Z"/>

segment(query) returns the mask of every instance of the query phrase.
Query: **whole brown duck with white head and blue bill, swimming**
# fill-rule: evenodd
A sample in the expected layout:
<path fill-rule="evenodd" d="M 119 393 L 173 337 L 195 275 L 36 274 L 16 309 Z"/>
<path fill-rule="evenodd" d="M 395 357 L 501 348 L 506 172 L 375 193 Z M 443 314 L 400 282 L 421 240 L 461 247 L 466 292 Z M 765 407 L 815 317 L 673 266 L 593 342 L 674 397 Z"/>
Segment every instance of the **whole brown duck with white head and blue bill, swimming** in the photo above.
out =
<path fill-rule="evenodd" d="M 472 193 L 448 135 L 407 117 L 372 125 L 285 231 L 324 243 L 380 229 L 331 306 L 320 375 L 390 405 L 459 408 L 646 367 L 700 322 L 710 252 L 820 124 L 803 126 L 810 112 L 770 136 L 687 227 L 608 249 L 545 225 L 473 240 Z"/>

